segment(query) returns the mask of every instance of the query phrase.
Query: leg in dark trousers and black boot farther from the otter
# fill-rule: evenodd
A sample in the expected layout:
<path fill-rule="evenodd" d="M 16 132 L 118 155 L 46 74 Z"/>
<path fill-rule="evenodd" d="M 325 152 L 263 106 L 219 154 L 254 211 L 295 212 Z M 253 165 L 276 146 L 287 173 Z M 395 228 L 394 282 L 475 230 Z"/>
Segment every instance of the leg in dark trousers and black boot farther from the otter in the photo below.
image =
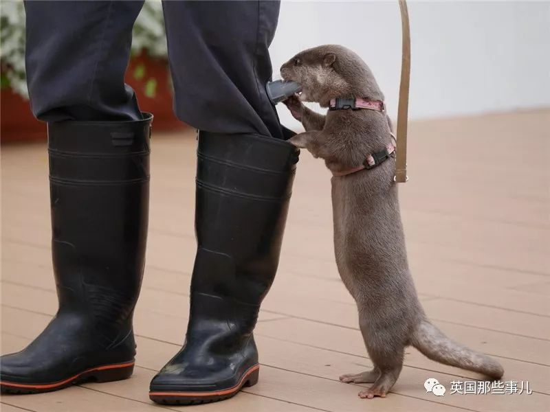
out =
<path fill-rule="evenodd" d="M 2 392 L 54 391 L 133 371 L 151 115 L 142 119 L 122 78 L 142 2 L 120 3 L 26 3 L 30 98 L 48 121 L 59 308 L 28 347 L 1 357 Z"/>

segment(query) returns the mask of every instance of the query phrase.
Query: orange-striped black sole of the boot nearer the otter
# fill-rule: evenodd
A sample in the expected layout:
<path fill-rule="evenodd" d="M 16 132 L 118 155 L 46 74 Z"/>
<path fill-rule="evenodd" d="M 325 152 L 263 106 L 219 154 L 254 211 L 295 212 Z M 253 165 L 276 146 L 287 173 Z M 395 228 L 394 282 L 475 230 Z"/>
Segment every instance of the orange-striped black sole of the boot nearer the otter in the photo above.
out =
<path fill-rule="evenodd" d="M 153 402 L 165 405 L 196 405 L 209 402 L 218 402 L 235 396 L 243 387 L 251 387 L 258 383 L 260 376 L 260 365 L 254 365 L 245 372 L 239 383 L 234 387 L 222 389 L 221 391 L 189 392 L 189 391 L 151 391 L 149 398 Z"/>

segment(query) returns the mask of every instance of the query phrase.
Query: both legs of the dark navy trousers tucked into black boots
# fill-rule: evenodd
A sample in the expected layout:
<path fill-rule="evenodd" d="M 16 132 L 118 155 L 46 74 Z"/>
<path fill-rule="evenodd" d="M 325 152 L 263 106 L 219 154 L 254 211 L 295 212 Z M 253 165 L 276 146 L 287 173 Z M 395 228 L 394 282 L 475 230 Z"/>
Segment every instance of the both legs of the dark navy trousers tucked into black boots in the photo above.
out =
<path fill-rule="evenodd" d="M 63 119 L 139 119 L 124 84 L 143 1 L 26 1 L 32 111 Z M 281 137 L 265 94 L 278 1 L 165 1 L 175 111 L 211 132 Z"/>

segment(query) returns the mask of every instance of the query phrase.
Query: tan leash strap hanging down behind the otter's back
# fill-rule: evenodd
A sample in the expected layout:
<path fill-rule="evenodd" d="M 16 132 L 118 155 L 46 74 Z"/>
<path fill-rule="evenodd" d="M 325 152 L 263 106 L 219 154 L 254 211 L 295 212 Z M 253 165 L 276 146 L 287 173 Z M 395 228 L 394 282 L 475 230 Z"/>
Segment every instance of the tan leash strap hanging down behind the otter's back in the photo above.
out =
<path fill-rule="evenodd" d="M 397 106 L 397 150 L 395 177 L 397 183 L 408 181 L 407 176 L 407 122 L 408 89 L 410 84 L 410 25 L 406 0 L 399 0 L 401 10 L 401 84 L 399 84 L 399 106 Z"/>

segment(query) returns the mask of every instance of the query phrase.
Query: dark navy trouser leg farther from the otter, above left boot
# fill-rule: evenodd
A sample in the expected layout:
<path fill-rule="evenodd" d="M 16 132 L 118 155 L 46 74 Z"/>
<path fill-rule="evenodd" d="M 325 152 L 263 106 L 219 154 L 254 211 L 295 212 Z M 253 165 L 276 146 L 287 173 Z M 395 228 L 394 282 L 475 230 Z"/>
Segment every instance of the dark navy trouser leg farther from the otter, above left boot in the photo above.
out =
<path fill-rule="evenodd" d="M 141 119 L 124 84 L 144 1 L 25 1 L 30 102 L 45 122 Z"/>

